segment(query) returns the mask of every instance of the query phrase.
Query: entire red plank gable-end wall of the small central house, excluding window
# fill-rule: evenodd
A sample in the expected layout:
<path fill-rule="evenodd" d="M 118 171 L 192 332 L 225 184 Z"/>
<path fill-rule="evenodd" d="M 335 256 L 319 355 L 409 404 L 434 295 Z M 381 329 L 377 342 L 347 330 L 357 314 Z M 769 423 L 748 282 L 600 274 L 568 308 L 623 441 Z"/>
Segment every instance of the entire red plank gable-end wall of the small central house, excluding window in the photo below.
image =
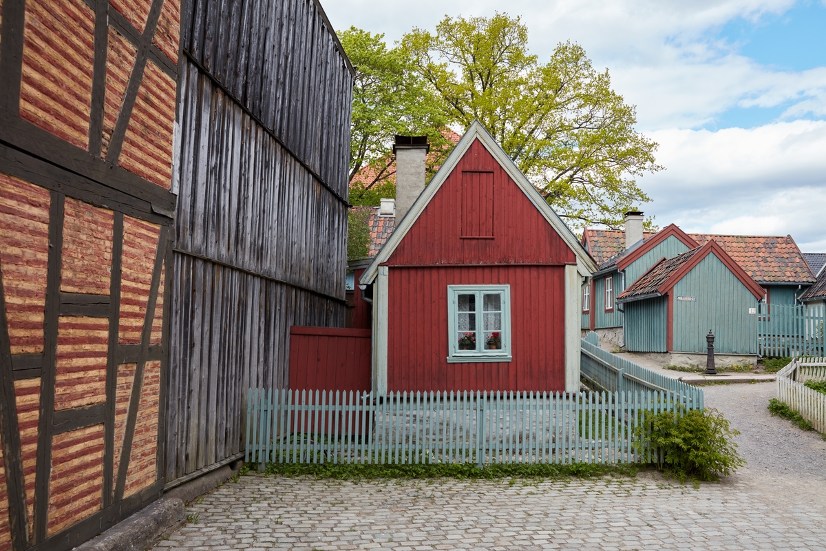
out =
<path fill-rule="evenodd" d="M 474 141 L 388 259 L 387 390 L 564 391 L 564 266 L 575 262 Z M 510 285 L 509 363 L 447 362 L 448 286 L 473 284 Z"/>

